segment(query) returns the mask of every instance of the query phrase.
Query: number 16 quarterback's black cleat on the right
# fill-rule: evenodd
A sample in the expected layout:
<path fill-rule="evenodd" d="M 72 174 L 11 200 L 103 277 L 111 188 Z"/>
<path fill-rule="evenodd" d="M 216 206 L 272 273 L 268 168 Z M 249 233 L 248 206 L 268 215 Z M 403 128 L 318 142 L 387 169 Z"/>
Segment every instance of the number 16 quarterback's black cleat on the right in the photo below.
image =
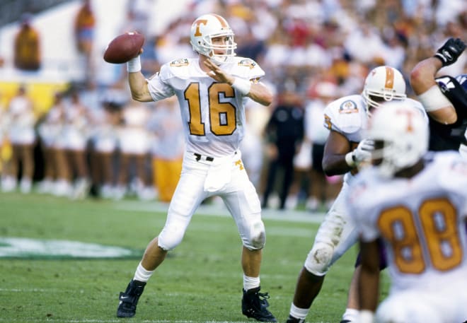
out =
<path fill-rule="evenodd" d="M 241 299 L 241 312 L 246 317 L 252 317 L 260 322 L 277 322 L 277 319 L 266 307 L 269 295 L 260 293 L 260 287 L 251 288 L 248 291 L 243 290 L 243 298 Z"/>

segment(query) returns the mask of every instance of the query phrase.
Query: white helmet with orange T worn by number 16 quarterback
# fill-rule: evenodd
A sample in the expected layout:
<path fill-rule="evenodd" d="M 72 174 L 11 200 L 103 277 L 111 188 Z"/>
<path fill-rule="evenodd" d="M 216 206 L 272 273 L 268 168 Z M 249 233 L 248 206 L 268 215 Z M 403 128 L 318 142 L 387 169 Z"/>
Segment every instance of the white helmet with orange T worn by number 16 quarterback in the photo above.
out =
<path fill-rule="evenodd" d="M 198 17 L 191 26 L 190 43 L 195 52 L 210 57 L 217 64 L 235 56 L 236 42 L 227 21 L 214 13 Z M 226 37 L 221 44 L 213 44 L 212 38 Z"/>

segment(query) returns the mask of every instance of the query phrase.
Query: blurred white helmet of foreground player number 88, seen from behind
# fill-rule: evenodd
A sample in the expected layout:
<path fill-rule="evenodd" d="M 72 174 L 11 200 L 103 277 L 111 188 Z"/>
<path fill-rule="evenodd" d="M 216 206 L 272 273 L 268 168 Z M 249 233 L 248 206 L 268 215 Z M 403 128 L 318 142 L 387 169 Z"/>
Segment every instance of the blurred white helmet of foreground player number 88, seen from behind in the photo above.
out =
<path fill-rule="evenodd" d="M 374 140 L 371 160 L 384 177 L 415 165 L 428 150 L 428 122 L 410 101 L 382 104 L 371 119 L 367 138 Z"/>

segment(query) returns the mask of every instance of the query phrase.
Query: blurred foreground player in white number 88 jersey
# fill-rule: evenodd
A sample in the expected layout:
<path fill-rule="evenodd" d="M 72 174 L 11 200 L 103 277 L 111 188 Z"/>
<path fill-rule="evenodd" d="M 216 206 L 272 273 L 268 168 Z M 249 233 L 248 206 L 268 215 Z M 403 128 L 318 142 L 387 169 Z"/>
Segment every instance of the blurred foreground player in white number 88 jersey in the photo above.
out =
<path fill-rule="evenodd" d="M 359 230 L 360 323 L 454 323 L 467 319 L 467 160 L 427 153 L 425 118 L 406 102 L 371 117 L 373 167 L 350 183 L 348 206 Z M 391 290 L 378 305 L 379 244 Z"/>

